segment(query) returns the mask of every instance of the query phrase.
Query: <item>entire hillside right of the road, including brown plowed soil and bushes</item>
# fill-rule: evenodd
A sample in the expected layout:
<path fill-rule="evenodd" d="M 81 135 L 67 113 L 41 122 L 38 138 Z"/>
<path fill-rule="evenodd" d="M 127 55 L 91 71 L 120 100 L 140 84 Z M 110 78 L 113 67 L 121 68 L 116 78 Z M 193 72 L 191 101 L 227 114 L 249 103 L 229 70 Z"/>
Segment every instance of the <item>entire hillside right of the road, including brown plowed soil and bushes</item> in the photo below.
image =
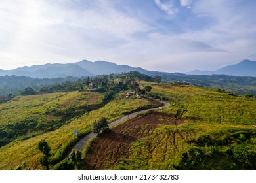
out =
<path fill-rule="evenodd" d="M 150 86 L 148 95 L 171 107 L 97 137 L 87 150 L 85 169 L 255 169 L 255 98 L 186 84 Z M 138 124 L 141 118 L 146 124 Z M 120 153 L 121 143 L 126 150 Z M 103 151 L 104 144 L 112 148 L 105 145 Z M 101 157 L 100 163 L 91 160 L 95 157 Z"/>

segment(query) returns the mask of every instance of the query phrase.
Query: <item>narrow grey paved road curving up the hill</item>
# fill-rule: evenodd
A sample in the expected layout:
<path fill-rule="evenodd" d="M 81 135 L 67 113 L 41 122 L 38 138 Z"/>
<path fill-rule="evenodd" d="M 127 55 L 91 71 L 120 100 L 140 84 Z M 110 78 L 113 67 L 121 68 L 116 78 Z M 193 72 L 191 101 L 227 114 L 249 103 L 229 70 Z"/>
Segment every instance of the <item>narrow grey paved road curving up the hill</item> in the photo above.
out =
<path fill-rule="evenodd" d="M 153 99 L 153 98 L 150 98 L 150 97 L 146 97 L 144 96 L 145 98 L 147 99 L 150 99 L 150 100 L 154 100 L 154 101 L 158 101 L 160 103 L 162 103 L 163 105 L 161 106 L 161 108 L 165 108 L 165 107 L 169 107 L 170 104 L 167 103 L 167 102 L 164 102 L 164 101 L 160 101 L 158 99 Z M 108 124 L 109 127 L 114 127 L 115 125 L 117 124 L 120 124 L 121 122 L 124 122 L 125 120 L 128 120 L 129 118 L 133 118 L 133 116 L 136 116 L 137 114 L 141 113 L 141 112 L 148 112 L 150 110 L 156 110 L 158 109 L 159 107 L 156 107 L 156 108 L 150 108 L 150 109 L 146 109 L 146 110 L 140 110 L 139 112 L 133 112 L 131 114 L 128 114 L 127 116 L 123 116 L 123 118 L 119 119 L 119 120 L 116 120 L 114 122 L 111 122 L 110 124 Z M 75 146 L 72 148 L 72 150 L 83 150 L 83 146 L 85 145 L 85 143 L 87 141 L 89 141 L 89 139 L 95 137 L 97 134 L 96 133 L 89 133 L 88 135 L 86 135 L 85 137 L 83 137 L 83 139 L 80 139 L 79 142 L 77 142 L 77 144 L 75 144 Z M 72 150 L 70 150 L 70 152 L 72 152 Z M 70 152 L 68 153 L 68 156 L 70 154 Z M 67 157 L 68 158 L 68 157 Z"/>

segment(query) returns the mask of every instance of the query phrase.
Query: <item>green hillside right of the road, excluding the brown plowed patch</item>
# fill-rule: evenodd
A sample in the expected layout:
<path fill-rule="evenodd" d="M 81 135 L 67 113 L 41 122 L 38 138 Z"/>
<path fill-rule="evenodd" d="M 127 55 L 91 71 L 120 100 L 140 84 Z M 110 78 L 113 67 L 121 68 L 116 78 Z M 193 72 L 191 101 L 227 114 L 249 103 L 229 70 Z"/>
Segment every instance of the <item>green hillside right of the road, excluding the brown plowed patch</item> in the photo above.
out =
<path fill-rule="evenodd" d="M 177 128 L 160 125 L 152 135 L 134 142 L 119 165 L 112 169 L 256 168 L 253 163 L 256 160 L 255 99 L 195 86 L 151 86 L 152 95 L 171 103 L 161 113 L 184 123 Z M 242 144 L 247 146 L 245 152 L 234 158 L 234 150 Z M 247 164 L 243 161 L 246 153 L 249 154 Z"/>

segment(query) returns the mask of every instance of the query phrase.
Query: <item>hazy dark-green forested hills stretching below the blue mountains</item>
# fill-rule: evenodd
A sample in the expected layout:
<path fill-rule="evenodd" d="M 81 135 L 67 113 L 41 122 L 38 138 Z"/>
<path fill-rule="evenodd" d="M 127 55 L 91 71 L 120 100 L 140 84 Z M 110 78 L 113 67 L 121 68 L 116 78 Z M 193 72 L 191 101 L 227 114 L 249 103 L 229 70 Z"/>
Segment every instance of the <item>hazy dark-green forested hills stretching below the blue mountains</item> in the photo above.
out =
<path fill-rule="evenodd" d="M 133 76 L 131 76 L 133 75 Z M 183 82 L 195 86 L 203 86 L 207 88 L 214 88 L 226 90 L 237 95 L 256 95 L 256 78 L 255 77 L 239 77 L 227 75 L 185 75 L 181 73 L 161 73 L 158 71 L 152 72 L 151 75 L 141 74 L 137 71 L 129 71 L 127 73 L 99 75 L 92 78 L 141 78 L 143 80 L 154 80 L 155 76 L 161 76 L 161 82 Z M 79 90 L 85 86 L 88 77 L 71 77 L 66 78 L 52 78 L 40 79 L 30 78 L 25 76 L 0 76 L 0 97 L 7 97 L 8 95 L 20 95 L 20 92 L 25 88 L 33 88 L 36 92 L 40 92 L 41 88 L 47 86 L 52 87 L 52 92 L 56 90 L 74 91 Z M 77 86 L 74 82 L 81 82 L 81 86 Z M 63 87 L 57 87 L 56 84 L 62 84 Z M 71 85 L 73 85 L 71 87 Z M 75 85 L 75 86 L 74 86 Z M 66 87 L 66 89 L 65 89 Z"/>

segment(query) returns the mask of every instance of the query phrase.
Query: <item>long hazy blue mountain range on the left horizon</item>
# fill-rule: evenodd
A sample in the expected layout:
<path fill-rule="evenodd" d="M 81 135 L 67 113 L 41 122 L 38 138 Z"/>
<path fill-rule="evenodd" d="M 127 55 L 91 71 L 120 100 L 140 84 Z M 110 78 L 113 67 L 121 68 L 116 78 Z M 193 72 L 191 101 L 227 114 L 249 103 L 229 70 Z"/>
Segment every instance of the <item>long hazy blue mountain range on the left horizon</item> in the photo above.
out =
<path fill-rule="evenodd" d="M 28 76 L 32 78 L 64 78 L 66 76 L 96 76 L 111 73 L 122 73 L 129 71 L 139 71 L 145 73 L 142 68 L 130 67 L 128 65 L 117 65 L 107 61 L 87 61 L 82 60 L 76 63 L 47 63 L 45 65 L 24 66 L 12 70 L 1 70 L 0 76 Z"/>

